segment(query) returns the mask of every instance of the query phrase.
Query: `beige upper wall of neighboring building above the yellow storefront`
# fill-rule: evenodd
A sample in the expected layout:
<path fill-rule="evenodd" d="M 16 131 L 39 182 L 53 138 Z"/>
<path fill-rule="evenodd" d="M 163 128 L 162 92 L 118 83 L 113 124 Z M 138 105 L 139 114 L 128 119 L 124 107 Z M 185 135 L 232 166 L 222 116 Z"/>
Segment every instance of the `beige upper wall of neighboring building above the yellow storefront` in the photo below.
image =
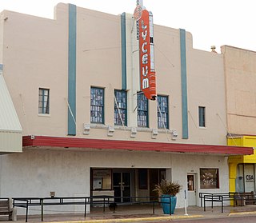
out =
<path fill-rule="evenodd" d="M 255 135 L 256 52 L 222 46 L 222 54 L 225 62 L 228 132 Z"/>

